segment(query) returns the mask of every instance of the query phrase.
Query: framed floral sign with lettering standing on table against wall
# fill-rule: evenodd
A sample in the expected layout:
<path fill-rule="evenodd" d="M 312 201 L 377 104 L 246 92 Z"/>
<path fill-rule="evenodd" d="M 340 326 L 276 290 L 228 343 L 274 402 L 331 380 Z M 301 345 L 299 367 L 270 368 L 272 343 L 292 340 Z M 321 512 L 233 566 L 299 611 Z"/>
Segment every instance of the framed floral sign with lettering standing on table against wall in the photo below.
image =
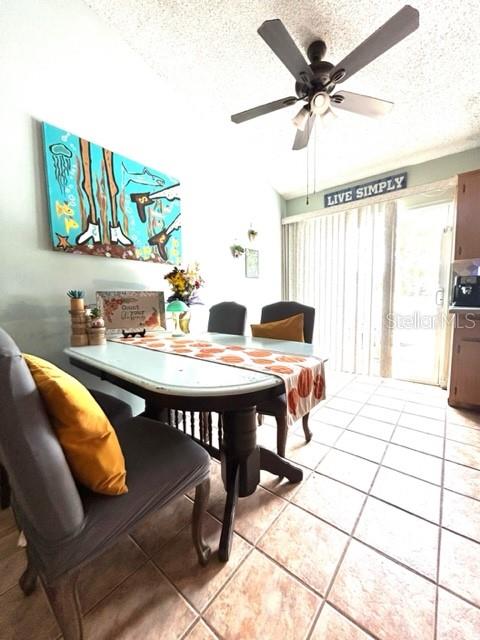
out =
<path fill-rule="evenodd" d="M 107 335 L 166 327 L 163 291 L 97 291 L 97 306 Z"/>

